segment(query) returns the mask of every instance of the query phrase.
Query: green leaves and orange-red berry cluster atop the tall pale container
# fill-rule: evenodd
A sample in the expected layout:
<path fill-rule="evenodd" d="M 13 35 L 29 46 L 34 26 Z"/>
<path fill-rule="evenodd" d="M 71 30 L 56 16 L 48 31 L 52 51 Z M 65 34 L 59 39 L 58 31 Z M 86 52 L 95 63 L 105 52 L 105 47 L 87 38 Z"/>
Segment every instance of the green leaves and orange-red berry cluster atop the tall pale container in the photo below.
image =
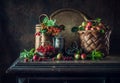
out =
<path fill-rule="evenodd" d="M 56 20 L 49 18 L 47 15 L 45 15 L 45 17 L 41 21 L 40 33 L 57 36 L 63 30 L 65 30 L 64 25 L 57 25 Z"/>

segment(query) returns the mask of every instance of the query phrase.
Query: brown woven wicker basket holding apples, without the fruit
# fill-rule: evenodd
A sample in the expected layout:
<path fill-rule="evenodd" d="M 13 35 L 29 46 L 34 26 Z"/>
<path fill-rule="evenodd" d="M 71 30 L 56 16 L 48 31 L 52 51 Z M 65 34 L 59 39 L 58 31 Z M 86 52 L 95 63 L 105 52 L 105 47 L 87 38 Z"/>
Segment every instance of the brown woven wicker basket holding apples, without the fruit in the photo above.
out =
<path fill-rule="evenodd" d="M 93 50 L 99 50 L 106 55 L 109 54 L 109 37 L 111 30 L 106 30 L 105 33 L 99 31 L 78 31 L 80 37 L 80 47 L 90 53 Z"/>

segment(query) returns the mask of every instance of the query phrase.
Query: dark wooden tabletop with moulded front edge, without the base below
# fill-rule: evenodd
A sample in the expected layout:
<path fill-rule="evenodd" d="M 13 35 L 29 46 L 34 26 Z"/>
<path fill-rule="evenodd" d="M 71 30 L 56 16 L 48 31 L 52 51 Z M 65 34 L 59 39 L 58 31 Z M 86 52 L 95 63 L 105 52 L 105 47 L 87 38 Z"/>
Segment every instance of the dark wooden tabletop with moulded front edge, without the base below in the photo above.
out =
<path fill-rule="evenodd" d="M 41 61 L 23 62 L 17 59 L 6 71 L 12 74 L 42 75 L 41 73 L 66 73 L 66 75 L 120 75 L 120 57 L 107 56 L 100 61 Z"/>

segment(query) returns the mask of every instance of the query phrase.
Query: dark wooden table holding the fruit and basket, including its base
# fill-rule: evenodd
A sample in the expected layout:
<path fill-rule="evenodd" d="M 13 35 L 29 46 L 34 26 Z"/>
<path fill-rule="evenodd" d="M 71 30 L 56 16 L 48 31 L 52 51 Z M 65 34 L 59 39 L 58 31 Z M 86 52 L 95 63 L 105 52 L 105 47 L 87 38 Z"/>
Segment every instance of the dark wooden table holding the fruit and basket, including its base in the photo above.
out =
<path fill-rule="evenodd" d="M 120 83 L 120 56 L 111 55 L 98 61 L 23 62 L 17 59 L 6 72 L 14 74 L 18 83 Z"/>

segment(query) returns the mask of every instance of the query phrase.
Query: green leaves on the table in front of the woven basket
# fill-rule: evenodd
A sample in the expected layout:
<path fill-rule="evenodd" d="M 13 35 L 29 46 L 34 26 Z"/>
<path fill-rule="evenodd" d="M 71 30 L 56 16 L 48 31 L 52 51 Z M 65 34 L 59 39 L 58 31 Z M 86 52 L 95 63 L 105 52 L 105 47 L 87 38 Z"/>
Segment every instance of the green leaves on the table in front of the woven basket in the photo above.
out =
<path fill-rule="evenodd" d="M 93 50 L 88 57 L 92 60 L 101 60 L 104 56 L 104 53 L 100 51 Z"/>

